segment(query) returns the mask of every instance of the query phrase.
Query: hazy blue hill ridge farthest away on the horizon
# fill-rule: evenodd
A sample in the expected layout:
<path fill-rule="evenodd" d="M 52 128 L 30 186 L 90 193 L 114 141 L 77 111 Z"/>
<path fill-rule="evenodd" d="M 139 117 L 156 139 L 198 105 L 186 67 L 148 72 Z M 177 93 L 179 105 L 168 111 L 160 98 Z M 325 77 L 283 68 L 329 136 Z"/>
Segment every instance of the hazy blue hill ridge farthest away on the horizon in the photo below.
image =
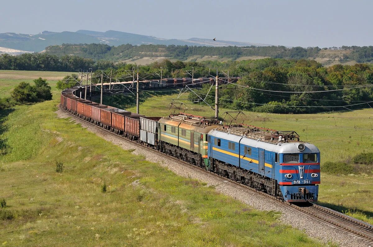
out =
<path fill-rule="evenodd" d="M 78 30 L 76 32 L 49 32 L 43 31 L 36 35 L 23 33 L 0 33 L 0 47 L 18 49 L 23 51 L 40 52 L 50 45 L 62 44 L 107 44 L 119 46 L 131 45 L 197 45 L 197 46 L 264 46 L 250 42 L 223 41 L 201 38 L 191 39 L 162 39 L 154 36 L 139 35 L 119 31 L 96 32 Z"/>

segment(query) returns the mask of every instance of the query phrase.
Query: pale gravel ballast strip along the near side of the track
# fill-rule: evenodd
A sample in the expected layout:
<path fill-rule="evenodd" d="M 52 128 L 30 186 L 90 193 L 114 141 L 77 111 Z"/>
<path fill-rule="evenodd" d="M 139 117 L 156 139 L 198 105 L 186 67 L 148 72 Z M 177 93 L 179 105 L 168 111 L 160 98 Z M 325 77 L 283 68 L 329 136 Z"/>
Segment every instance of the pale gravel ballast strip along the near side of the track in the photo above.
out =
<path fill-rule="evenodd" d="M 56 111 L 59 118 L 68 118 L 72 117 L 65 110 L 59 109 Z M 341 228 L 336 227 L 333 224 L 327 224 L 325 222 L 318 222 L 315 219 L 308 218 L 305 215 L 301 215 L 295 209 L 285 209 L 280 205 L 270 201 L 269 199 L 261 198 L 253 192 L 243 190 L 234 186 L 228 181 L 222 181 L 221 178 L 215 177 L 211 174 L 204 174 L 198 170 L 192 169 L 185 164 L 178 163 L 172 158 L 161 156 L 154 151 L 148 150 L 145 147 L 141 147 L 137 144 L 127 141 L 123 138 L 120 138 L 116 135 L 111 135 L 108 132 L 96 128 L 95 126 L 88 124 L 82 119 L 72 118 L 73 121 L 77 124 L 81 124 L 82 127 L 86 128 L 88 131 L 93 132 L 97 136 L 110 141 L 115 145 L 120 146 L 124 150 L 134 150 L 133 154 L 144 155 L 146 160 L 158 163 L 162 167 L 167 167 L 175 174 L 178 174 L 183 177 L 191 177 L 198 179 L 201 182 L 207 183 L 207 186 L 214 186 L 217 192 L 223 193 L 224 195 L 231 196 L 232 198 L 239 200 L 247 205 L 252 206 L 255 209 L 261 211 L 278 211 L 281 212 L 280 220 L 289 224 L 294 228 L 304 231 L 311 238 L 317 238 L 323 243 L 328 243 L 330 241 L 339 244 L 343 247 L 370 247 L 361 237 L 356 236 L 355 234 L 345 234 Z"/>

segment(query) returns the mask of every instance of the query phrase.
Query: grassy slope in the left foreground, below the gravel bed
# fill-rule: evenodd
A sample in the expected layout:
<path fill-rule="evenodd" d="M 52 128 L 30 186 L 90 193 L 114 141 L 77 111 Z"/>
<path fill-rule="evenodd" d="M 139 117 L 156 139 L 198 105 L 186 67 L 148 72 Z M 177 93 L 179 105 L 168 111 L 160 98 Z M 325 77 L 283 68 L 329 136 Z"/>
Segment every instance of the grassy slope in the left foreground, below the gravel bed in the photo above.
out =
<path fill-rule="evenodd" d="M 58 103 L 0 112 L 2 246 L 323 246 L 57 118 Z"/>

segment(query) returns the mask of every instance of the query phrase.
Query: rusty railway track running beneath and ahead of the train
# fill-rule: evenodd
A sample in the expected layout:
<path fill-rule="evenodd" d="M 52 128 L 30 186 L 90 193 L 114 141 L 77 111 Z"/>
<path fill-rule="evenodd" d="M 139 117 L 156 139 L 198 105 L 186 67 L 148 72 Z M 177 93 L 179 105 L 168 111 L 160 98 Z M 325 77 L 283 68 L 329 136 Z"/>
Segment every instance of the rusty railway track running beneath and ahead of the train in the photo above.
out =
<path fill-rule="evenodd" d="M 63 108 L 61 108 L 63 109 Z M 64 110 L 64 109 L 63 109 Z M 73 115 L 72 113 L 66 111 L 71 116 L 73 116 L 76 119 L 79 119 L 81 121 L 84 121 L 83 119 L 79 118 L 78 116 Z M 87 121 L 84 121 L 87 122 Z M 163 155 L 165 157 L 168 157 L 170 159 L 173 159 L 177 161 L 178 163 L 184 164 L 185 166 L 190 167 L 192 170 L 198 170 L 202 173 L 205 173 L 207 176 L 213 176 L 216 179 L 220 179 L 222 182 L 229 182 L 234 187 L 239 188 L 242 191 L 250 192 L 254 195 L 259 196 L 260 198 L 267 199 L 269 201 L 272 201 L 273 203 L 282 206 L 283 208 L 287 209 L 293 209 L 300 214 L 307 216 L 308 218 L 312 218 L 319 222 L 320 224 L 327 224 L 330 227 L 339 228 L 341 231 L 344 231 L 345 234 L 350 234 L 351 236 L 357 237 L 360 240 L 363 240 L 367 243 L 367 245 L 373 246 L 373 225 L 370 225 L 366 222 L 360 221 L 358 219 L 352 218 L 350 216 L 347 216 L 345 214 L 342 214 L 340 212 L 334 211 L 332 209 L 317 205 L 315 203 L 311 202 L 305 202 L 301 204 L 292 204 L 289 202 L 284 202 L 274 196 L 268 195 L 267 193 L 261 192 L 259 190 L 256 190 L 254 188 L 251 188 L 247 185 L 244 185 L 242 183 L 238 183 L 235 180 L 231 180 L 227 177 L 221 176 L 219 174 L 213 173 L 212 171 L 207 171 L 203 169 L 202 167 L 198 167 L 195 165 L 192 165 L 186 161 L 179 160 L 178 158 L 175 158 L 171 155 L 164 154 L 160 151 L 157 151 L 153 148 L 146 147 L 145 145 L 142 145 L 138 142 L 131 141 L 121 135 L 114 134 L 113 132 L 103 129 L 97 125 L 94 125 L 90 122 L 87 122 L 91 124 L 94 128 L 97 128 L 101 131 L 108 132 L 111 135 L 115 135 L 116 137 L 119 137 L 127 142 L 130 142 L 132 144 L 139 145 L 142 148 L 146 148 L 147 150 L 156 153 L 157 155 Z"/>

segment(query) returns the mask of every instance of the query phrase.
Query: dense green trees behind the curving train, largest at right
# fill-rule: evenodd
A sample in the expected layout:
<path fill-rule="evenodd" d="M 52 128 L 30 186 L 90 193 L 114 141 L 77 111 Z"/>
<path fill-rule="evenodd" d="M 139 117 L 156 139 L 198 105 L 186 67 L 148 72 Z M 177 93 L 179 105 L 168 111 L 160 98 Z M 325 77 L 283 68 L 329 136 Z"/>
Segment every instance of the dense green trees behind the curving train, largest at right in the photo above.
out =
<path fill-rule="evenodd" d="M 113 77 L 123 77 L 124 71 L 132 70 L 134 66 L 134 64 L 125 64 L 113 70 Z M 333 106 L 354 105 L 348 107 L 349 109 L 373 106 L 373 103 L 368 104 L 373 102 L 373 65 L 371 64 L 323 67 L 312 60 L 280 58 L 229 62 L 164 60 L 140 66 L 139 73 L 141 77 L 147 79 L 159 79 L 155 72 L 159 73 L 161 67 L 163 76 L 173 78 L 185 77 L 185 71 L 192 68 L 194 68 L 195 78 L 216 76 L 216 70 L 213 68 L 219 68 L 219 77 L 224 77 L 223 71 L 227 73 L 228 70 L 230 76 L 241 76 L 242 78 L 235 85 L 220 86 L 220 104 L 231 109 L 273 113 L 314 113 L 346 110 L 343 107 L 333 108 Z M 95 71 L 97 78 L 100 73 L 100 70 Z M 108 82 L 109 78 L 105 80 Z M 205 98 L 208 94 L 206 102 L 213 105 L 215 92 L 214 89 L 210 90 L 210 87 L 210 84 L 205 84 L 202 89 L 193 90 L 201 98 Z M 192 92 L 188 97 L 191 101 L 197 98 Z"/>

